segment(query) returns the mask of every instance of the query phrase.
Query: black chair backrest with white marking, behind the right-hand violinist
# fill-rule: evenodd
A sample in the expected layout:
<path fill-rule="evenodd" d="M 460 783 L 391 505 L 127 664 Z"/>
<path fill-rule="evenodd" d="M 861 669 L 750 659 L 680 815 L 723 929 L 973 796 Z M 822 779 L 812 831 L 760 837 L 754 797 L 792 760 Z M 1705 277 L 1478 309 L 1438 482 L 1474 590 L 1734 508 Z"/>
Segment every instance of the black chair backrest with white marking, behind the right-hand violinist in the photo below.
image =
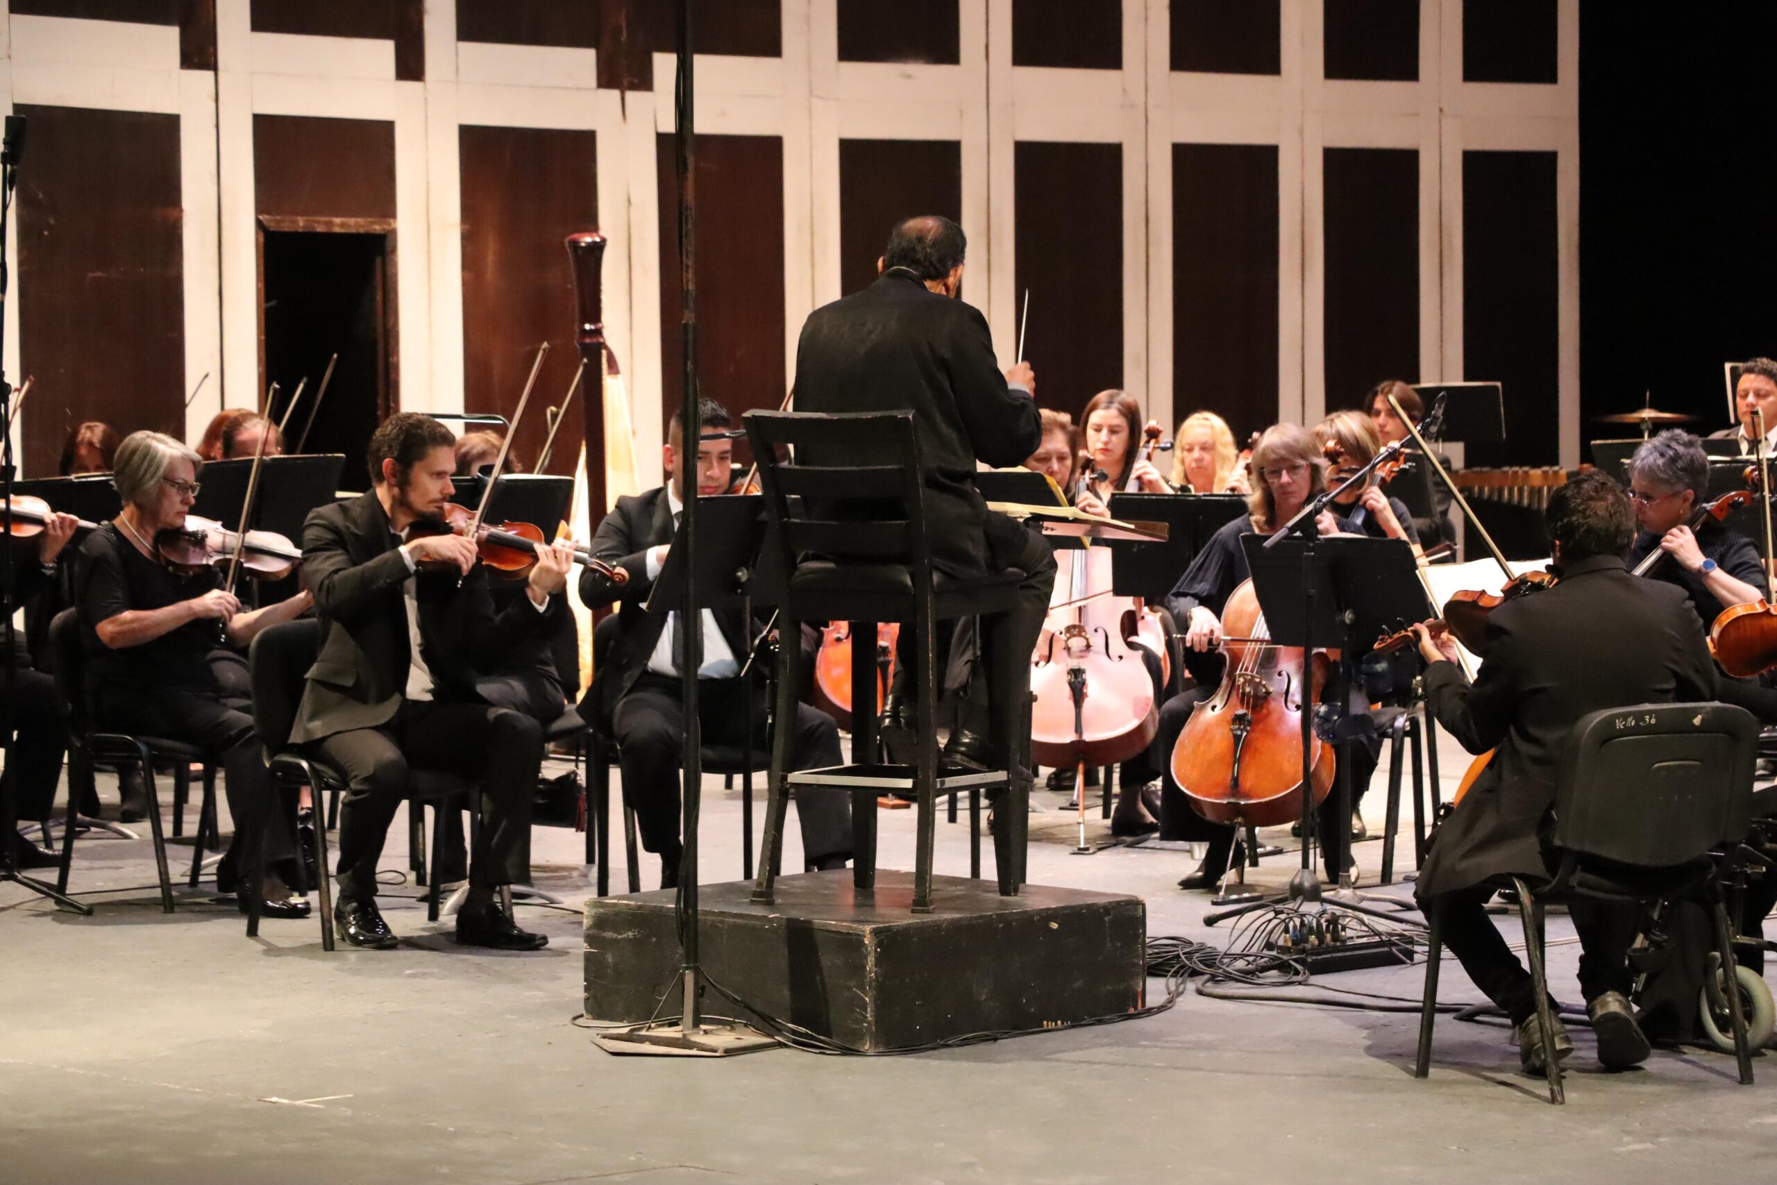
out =
<path fill-rule="evenodd" d="M 1582 718 L 1562 755 L 1555 846 L 1672 867 L 1747 833 L 1759 727 L 1725 704 L 1642 704 Z"/>

